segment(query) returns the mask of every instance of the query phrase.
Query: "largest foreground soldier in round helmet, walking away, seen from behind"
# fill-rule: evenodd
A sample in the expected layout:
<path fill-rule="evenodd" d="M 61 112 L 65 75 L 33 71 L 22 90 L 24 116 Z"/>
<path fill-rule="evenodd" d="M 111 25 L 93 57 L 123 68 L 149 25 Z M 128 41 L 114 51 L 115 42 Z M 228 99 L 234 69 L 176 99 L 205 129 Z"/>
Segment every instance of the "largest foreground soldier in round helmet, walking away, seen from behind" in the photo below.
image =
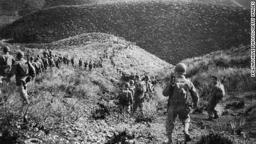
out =
<path fill-rule="evenodd" d="M 169 108 L 166 120 L 166 132 L 168 135 L 168 143 L 173 143 L 172 133 L 174 128 L 174 122 L 177 115 L 184 125 L 185 141 L 191 141 L 189 135 L 189 124 L 191 111 L 191 99 L 194 103 L 194 108 L 198 107 L 199 96 L 191 81 L 185 78 L 186 65 L 184 63 L 178 63 L 175 67 L 175 82 L 165 86 L 163 95 L 169 96 Z"/>

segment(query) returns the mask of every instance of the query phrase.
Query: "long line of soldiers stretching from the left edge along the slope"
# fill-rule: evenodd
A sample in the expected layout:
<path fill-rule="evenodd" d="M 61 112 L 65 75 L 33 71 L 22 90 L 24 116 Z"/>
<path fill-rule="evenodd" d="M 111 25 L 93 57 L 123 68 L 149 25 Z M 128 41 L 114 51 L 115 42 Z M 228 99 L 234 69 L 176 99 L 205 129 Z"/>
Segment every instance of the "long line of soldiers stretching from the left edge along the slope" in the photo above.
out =
<path fill-rule="evenodd" d="M 13 75 L 16 75 L 16 85 L 18 87 L 19 96 L 22 98 L 23 105 L 27 105 L 28 101 L 28 94 L 27 94 L 27 83 L 35 80 L 36 76 L 40 76 L 40 74 L 46 71 L 48 68 L 56 67 L 60 69 L 62 63 L 66 66 L 69 66 L 71 62 L 72 66 L 75 64 L 72 62 L 74 61 L 74 57 L 68 57 L 68 54 L 65 56 L 57 56 L 56 54 L 53 55 L 51 50 L 44 50 L 43 57 L 37 56 L 30 56 L 27 59 L 24 59 L 24 53 L 18 52 L 16 59 L 9 54 L 11 49 L 8 46 L 4 46 L 3 54 L 0 56 L 0 84 L 3 81 L 9 82 L 10 78 Z M 86 61 L 84 63 L 85 69 L 92 70 L 92 68 L 102 67 L 102 61 L 96 60 L 93 63 L 90 61 L 89 63 Z M 82 59 L 80 58 L 78 61 L 78 66 L 82 69 Z M 1 95 L 0 89 L 0 95 Z"/>

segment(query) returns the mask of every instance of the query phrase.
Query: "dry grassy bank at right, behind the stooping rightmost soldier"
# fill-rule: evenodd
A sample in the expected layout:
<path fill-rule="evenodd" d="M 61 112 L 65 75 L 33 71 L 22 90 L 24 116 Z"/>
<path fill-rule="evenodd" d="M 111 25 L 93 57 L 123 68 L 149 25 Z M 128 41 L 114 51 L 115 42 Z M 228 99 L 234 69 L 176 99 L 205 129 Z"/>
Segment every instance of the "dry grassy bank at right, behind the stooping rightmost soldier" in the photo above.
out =
<path fill-rule="evenodd" d="M 245 92 L 256 88 L 255 79 L 250 77 L 248 46 L 217 51 L 182 62 L 188 64 L 188 77 L 200 93 L 208 90 L 211 76 L 217 76 L 219 80 L 226 76 L 224 86 L 227 92 Z"/>

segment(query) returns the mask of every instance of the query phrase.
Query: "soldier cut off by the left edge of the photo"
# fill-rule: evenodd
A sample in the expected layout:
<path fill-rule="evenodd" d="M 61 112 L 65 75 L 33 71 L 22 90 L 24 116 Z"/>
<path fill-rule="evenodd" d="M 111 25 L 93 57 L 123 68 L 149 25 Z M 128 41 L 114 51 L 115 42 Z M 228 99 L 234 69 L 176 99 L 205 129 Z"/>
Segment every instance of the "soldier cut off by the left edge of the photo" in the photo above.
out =
<path fill-rule="evenodd" d="M 14 57 L 9 54 L 10 51 L 9 47 L 3 47 L 3 55 L 0 56 L 0 76 L 7 76 L 15 62 Z"/>

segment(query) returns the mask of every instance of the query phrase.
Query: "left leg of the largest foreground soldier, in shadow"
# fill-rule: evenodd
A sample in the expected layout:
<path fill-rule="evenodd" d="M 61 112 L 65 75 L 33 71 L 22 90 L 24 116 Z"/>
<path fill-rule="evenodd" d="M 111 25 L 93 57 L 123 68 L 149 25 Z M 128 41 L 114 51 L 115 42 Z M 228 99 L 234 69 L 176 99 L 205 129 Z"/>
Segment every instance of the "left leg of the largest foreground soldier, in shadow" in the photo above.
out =
<path fill-rule="evenodd" d="M 176 116 L 177 113 L 174 111 L 174 108 L 170 107 L 167 113 L 167 119 L 165 123 L 168 143 L 173 143 L 173 128 Z"/>

